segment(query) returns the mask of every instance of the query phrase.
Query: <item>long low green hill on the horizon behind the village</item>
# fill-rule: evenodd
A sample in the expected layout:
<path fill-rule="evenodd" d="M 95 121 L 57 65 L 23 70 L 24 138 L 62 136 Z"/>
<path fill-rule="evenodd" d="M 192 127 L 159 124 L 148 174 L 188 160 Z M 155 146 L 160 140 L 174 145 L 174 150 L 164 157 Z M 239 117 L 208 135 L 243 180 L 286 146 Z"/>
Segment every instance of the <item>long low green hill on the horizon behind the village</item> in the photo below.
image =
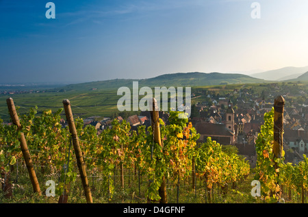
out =
<path fill-rule="evenodd" d="M 149 86 L 174 86 L 174 87 L 188 87 L 188 86 L 209 86 L 220 84 L 247 84 L 247 83 L 263 83 L 264 79 L 257 79 L 249 75 L 232 74 L 232 73 L 172 73 L 159 75 L 149 79 L 111 79 L 107 81 L 93 81 L 81 84 L 70 84 L 64 89 L 115 89 L 121 86 L 132 87 L 133 81 L 138 81 L 139 87 Z"/>

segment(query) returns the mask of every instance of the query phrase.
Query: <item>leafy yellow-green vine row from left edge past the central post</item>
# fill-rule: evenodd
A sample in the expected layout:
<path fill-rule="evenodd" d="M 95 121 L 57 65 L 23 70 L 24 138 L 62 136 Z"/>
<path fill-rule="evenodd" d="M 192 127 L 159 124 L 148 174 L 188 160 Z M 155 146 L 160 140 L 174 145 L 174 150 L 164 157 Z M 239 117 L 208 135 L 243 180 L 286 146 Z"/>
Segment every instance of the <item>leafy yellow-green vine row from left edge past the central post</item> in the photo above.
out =
<path fill-rule="evenodd" d="M 153 125 L 148 129 L 140 126 L 138 131 L 131 131 L 127 122 L 114 120 L 112 128 L 97 135 L 96 129 L 91 125 L 84 127 L 81 118 L 73 120 L 73 115 L 68 115 L 67 101 L 64 109 L 68 127 L 60 125 L 62 110 L 54 114 L 51 110 L 46 110 L 38 116 L 36 108 L 33 108 L 28 114 L 18 118 L 17 112 L 11 112 L 12 105 L 14 103 L 11 101 L 9 110 L 15 124 L 1 125 L 0 128 L 0 135 L 4 135 L 0 138 L 1 175 L 5 177 L 10 174 L 10 168 L 16 164 L 16 159 L 24 157 L 27 163 L 25 151 L 29 153 L 29 149 L 36 150 L 28 156 L 32 170 L 30 171 L 28 165 L 27 168 L 30 179 L 34 177 L 31 183 L 34 192 L 38 194 L 41 191 L 38 181 L 35 181 L 37 178 L 32 162 L 40 162 L 42 166 L 52 168 L 53 173 L 60 174 L 60 180 L 65 180 L 65 183 L 58 183 L 55 192 L 61 196 L 67 194 L 70 184 L 77 177 L 77 172 L 70 166 L 75 158 L 88 203 L 92 203 L 92 198 L 86 168 L 100 168 L 100 173 L 106 177 L 114 175 L 115 167 L 120 168 L 122 188 L 124 167 L 137 168 L 149 181 L 145 193 L 149 201 L 159 201 L 166 197 L 166 179 L 179 183 L 179 180 L 190 176 L 194 186 L 196 177 L 203 177 L 210 191 L 214 183 L 224 186 L 243 179 L 249 173 L 249 164 L 244 159 L 235 154 L 224 153 L 220 144 L 211 138 L 197 146 L 199 135 L 196 129 L 188 123 L 187 118 L 178 118 L 179 112 L 170 112 L 170 125 L 164 125 L 158 116 L 155 120 L 155 114 L 152 114 Z M 20 123 L 16 123 L 16 120 Z M 74 125 L 75 130 L 70 128 L 70 124 Z M 23 143 L 27 145 L 27 150 L 21 148 Z M 112 199 L 114 181 L 110 179 L 107 183 L 105 190 Z"/>

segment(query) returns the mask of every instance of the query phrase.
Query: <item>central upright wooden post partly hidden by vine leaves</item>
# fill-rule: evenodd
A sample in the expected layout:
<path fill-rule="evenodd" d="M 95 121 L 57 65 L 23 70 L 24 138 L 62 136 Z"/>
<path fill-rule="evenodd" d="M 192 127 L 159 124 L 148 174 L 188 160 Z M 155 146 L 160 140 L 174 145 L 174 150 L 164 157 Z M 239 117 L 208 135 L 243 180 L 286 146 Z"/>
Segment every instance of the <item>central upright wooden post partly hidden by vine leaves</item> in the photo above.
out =
<path fill-rule="evenodd" d="M 151 126 L 153 129 L 153 137 L 154 142 L 158 143 L 160 146 L 163 146 L 162 144 L 162 138 L 160 135 L 160 128 L 159 128 L 159 109 L 157 107 L 157 101 L 155 98 L 153 98 L 152 103 L 152 110 L 151 110 Z M 159 203 L 167 203 L 167 190 L 166 190 L 166 179 L 165 176 L 162 177 L 162 185 L 159 187 L 159 196 L 161 199 L 159 200 Z"/>

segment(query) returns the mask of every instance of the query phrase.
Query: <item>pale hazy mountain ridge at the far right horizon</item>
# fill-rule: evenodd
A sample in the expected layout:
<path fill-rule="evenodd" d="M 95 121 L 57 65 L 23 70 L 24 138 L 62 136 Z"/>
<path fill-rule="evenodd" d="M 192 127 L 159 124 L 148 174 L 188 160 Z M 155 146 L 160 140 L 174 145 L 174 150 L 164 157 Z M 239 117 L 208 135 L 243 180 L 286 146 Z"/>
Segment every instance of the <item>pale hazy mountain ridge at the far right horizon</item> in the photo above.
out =
<path fill-rule="evenodd" d="M 303 75 L 308 71 L 308 66 L 293 67 L 288 66 L 275 70 L 265 71 L 263 73 L 252 74 L 251 77 L 264 79 L 268 81 L 284 81 L 288 79 L 296 79 L 298 76 Z"/>

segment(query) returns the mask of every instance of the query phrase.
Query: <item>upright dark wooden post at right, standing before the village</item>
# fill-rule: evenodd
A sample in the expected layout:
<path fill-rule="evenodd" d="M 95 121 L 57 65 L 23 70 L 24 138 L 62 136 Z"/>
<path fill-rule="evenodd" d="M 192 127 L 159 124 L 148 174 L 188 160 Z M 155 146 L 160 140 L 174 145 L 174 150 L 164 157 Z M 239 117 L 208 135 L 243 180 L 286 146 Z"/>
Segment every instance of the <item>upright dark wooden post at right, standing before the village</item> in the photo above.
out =
<path fill-rule="evenodd" d="M 283 110 L 285 106 L 285 99 L 282 96 L 274 99 L 274 145 L 273 153 L 274 158 L 281 158 L 283 151 Z M 279 166 L 275 162 L 274 168 L 278 169 Z M 279 175 L 279 172 L 277 170 Z M 281 190 L 279 192 L 279 198 L 281 197 Z"/>

